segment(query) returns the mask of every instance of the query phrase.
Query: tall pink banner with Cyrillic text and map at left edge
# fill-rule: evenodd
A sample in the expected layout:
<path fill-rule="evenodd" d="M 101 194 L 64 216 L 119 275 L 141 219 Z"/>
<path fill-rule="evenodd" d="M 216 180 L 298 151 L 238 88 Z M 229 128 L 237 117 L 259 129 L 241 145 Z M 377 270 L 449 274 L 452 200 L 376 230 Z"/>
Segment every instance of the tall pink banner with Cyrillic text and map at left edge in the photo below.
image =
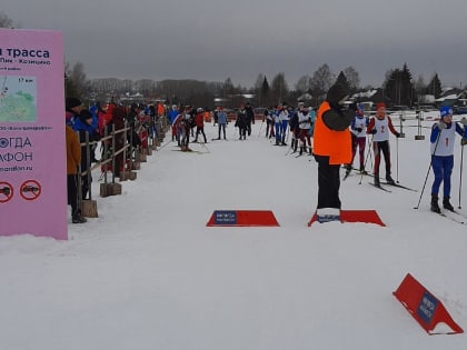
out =
<path fill-rule="evenodd" d="M 0 234 L 68 239 L 63 40 L 0 29 Z"/>

